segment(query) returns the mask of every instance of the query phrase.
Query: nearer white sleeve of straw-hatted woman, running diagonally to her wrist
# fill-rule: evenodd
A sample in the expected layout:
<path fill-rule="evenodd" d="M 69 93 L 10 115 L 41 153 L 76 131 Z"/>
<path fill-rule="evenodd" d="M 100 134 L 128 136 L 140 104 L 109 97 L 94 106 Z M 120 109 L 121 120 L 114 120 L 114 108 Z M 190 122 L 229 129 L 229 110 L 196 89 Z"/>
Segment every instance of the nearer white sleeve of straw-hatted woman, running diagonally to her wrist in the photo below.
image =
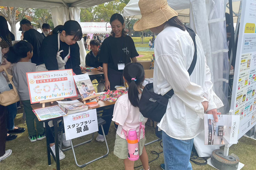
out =
<path fill-rule="evenodd" d="M 164 54 L 156 59 L 164 78 L 171 85 L 174 94 L 179 97 L 186 106 L 196 113 L 204 113 L 201 102 L 204 100 L 204 90 L 201 86 L 190 82 L 189 73 L 179 51 L 175 54 Z M 168 66 L 166 65 L 168 63 Z"/>

